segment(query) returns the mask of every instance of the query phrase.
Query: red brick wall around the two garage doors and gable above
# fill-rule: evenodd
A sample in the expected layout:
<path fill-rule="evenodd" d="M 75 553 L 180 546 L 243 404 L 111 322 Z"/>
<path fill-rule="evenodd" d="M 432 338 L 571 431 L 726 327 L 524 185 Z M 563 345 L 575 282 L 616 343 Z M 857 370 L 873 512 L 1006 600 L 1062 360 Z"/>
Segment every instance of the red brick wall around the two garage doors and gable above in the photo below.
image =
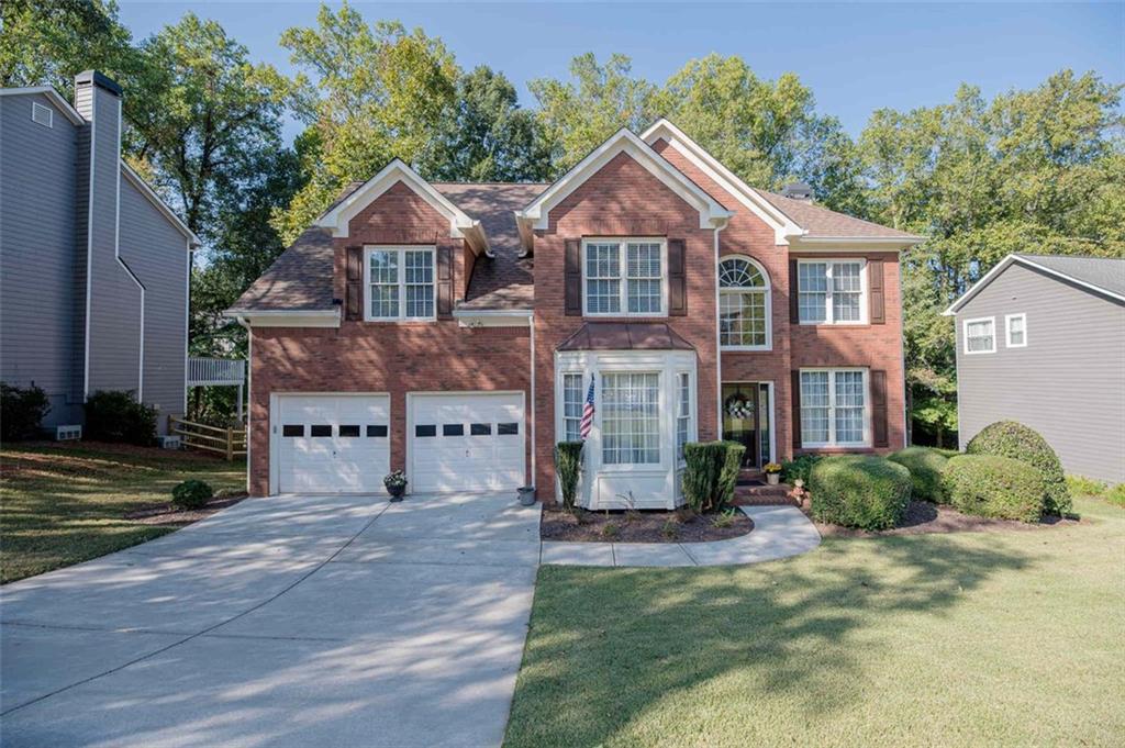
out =
<path fill-rule="evenodd" d="M 344 247 L 433 244 L 449 220 L 398 183 L 352 219 L 335 240 L 334 287 L 344 295 Z M 465 288 L 465 252 L 454 252 L 454 295 Z M 390 467 L 405 468 L 406 393 L 530 391 L 526 327 L 459 327 L 438 322 L 342 322 L 333 328 L 255 327 L 251 361 L 251 493 L 269 493 L 271 393 L 389 393 Z M 528 397 L 530 403 L 530 397 Z M 530 407 L 529 407 L 530 409 Z M 524 426 L 524 431 L 530 430 Z M 528 465 L 530 471 L 530 445 Z"/>

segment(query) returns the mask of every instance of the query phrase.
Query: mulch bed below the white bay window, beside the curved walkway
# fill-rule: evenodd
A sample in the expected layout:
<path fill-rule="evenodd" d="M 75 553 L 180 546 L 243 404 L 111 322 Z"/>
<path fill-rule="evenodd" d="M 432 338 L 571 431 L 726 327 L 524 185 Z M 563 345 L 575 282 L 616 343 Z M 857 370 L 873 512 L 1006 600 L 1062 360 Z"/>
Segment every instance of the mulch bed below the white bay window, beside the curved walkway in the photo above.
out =
<path fill-rule="evenodd" d="M 737 538 L 754 529 L 754 522 L 737 510 L 734 522 L 728 526 L 714 526 L 717 516 L 695 514 L 691 511 L 656 510 L 639 512 L 576 510 L 575 514 L 570 514 L 544 507 L 539 523 L 539 537 L 543 540 L 591 543 L 693 543 Z M 606 528 L 611 525 L 612 530 L 608 530 Z"/>

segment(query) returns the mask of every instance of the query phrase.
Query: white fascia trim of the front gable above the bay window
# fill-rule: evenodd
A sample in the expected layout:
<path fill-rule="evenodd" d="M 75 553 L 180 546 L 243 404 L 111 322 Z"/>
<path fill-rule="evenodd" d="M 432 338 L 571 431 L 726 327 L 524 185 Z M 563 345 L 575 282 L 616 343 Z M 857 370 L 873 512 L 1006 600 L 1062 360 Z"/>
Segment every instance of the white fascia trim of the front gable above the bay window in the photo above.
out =
<path fill-rule="evenodd" d="M 673 166 L 667 159 L 648 146 L 626 128 L 621 128 L 608 141 L 597 146 L 590 155 L 578 162 L 570 171 L 547 188 L 539 197 L 522 210 L 515 211 L 518 222 L 528 223 L 531 228 L 546 229 L 550 220 L 550 211 L 564 198 L 578 189 L 592 175 L 597 173 L 611 159 L 619 153 L 628 154 L 633 161 L 659 179 L 668 189 L 695 207 L 700 214 L 700 228 L 713 228 L 724 225 L 734 213 L 719 205 L 703 188 L 688 179 L 682 171 Z M 522 233 L 522 232 L 521 232 Z"/>

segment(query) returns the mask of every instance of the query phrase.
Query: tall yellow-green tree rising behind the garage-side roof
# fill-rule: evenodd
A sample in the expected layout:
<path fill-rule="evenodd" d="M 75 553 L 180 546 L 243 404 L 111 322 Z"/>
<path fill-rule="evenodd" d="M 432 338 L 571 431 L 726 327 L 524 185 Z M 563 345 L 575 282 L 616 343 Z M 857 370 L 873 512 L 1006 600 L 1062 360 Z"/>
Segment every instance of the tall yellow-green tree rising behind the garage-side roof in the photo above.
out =
<path fill-rule="evenodd" d="M 291 241 L 349 181 L 395 156 L 420 164 L 454 116 L 460 71 L 441 39 L 394 21 L 368 25 L 346 2 L 335 12 L 322 6 L 316 28 L 287 29 L 281 46 L 303 71 L 292 102 L 308 125 L 298 148 L 308 183 L 274 215 Z"/>

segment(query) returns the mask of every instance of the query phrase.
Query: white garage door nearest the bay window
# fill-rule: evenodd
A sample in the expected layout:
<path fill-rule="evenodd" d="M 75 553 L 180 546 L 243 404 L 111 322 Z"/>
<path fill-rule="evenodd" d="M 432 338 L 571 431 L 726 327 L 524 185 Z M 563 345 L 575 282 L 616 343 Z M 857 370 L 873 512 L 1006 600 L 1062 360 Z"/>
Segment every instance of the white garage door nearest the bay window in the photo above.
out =
<path fill-rule="evenodd" d="M 411 490 L 456 493 L 523 485 L 522 394 L 412 395 Z"/>

